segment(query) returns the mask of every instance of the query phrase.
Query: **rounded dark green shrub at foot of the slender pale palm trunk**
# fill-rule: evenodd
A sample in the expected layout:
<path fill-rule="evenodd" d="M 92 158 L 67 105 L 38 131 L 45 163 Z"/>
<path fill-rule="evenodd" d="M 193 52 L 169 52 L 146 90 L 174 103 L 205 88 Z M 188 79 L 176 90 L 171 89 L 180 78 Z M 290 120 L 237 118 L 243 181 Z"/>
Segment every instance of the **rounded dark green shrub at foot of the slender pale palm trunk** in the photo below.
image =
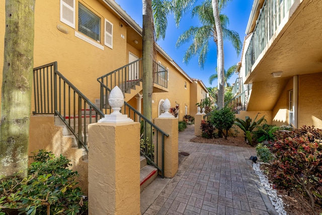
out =
<path fill-rule="evenodd" d="M 227 139 L 228 130 L 232 127 L 235 119 L 235 114 L 228 107 L 220 110 L 215 110 L 210 116 L 210 123 L 218 129 L 218 136 L 222 135 Z M 226 131 L 226 133 L 223 132 Z"/>

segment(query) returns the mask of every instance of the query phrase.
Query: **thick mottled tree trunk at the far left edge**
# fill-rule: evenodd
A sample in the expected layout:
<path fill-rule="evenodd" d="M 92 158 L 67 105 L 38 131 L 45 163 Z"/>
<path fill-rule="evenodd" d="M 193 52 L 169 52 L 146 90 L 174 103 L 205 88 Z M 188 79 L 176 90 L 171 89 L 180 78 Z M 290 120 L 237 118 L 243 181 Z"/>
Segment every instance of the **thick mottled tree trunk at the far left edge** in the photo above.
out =
<path fill-rule="evenodd" d="M 27 175 L 35 0 L 6 0 L 0 175 Z"/>

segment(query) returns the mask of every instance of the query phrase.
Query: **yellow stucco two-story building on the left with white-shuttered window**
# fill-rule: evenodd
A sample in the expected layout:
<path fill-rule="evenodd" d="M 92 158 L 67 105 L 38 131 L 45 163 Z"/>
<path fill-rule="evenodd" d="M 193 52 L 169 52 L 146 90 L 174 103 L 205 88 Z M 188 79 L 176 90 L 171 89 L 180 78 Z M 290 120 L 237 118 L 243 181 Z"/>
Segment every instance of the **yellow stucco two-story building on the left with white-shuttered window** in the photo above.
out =
<path fill-rule="evenodd" d="M 0 5 L 0 17 L 1 26 L 5 26 L 4 2 Z M 0 38 L 4 38 L 4 32 L 0 32 Z M 39 1 L 35 7 L 34 67 L 57 61 L 58 71 L 96 103 L 100 99 L 97 78 L 139 59 L 141 35 L 139 25 L 115 1 Z M 0 43 L 0 50 L 3 49 L 4 43 Z M 158 45 L 155 62 L 167 69 L 168 86 L 154 85 L 153 118 L 158 116 L 160 101 L 166 98 L 173 106 L 180 105 L 181 116 L 195 114 L 191 112 L 191 108 L 195 110 L 195 101 L 190 100 L 194 99 L 191 94 L 196 92 L 191 91 L 199 89 L 191 88 L 192 79 Z M 200 86 L 207 92 L 202 83 Z M 141 89 L 139 86 L 125 95 L 125 100 L 133 107 L 137 107 L 135 96 L 142 95 Z M 197 100 L 200 97 L 198 95 Z"/>

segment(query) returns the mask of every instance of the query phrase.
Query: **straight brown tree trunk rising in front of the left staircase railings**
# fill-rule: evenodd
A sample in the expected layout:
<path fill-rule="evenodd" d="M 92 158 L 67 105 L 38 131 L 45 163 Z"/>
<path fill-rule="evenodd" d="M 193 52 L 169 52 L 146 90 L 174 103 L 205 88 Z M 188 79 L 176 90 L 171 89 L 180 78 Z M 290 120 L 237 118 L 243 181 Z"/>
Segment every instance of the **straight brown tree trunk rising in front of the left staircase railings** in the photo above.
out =
<path fill-rule="evenodd" d="M 152 120 L 152 91 L 153 91 L 153 19 L 151 0 L 142 0 L 143 5 L 143 115 Z"/>

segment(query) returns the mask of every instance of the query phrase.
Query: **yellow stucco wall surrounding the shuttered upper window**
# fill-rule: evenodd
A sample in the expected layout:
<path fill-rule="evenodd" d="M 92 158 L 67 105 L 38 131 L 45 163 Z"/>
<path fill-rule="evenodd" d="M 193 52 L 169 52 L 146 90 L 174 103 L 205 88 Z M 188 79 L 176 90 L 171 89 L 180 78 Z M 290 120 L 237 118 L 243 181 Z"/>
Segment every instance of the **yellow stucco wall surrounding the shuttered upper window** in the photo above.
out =
<path fill-rule="evenodd" d="M 101 17 L 101 45 L 104 50 L 75 36 L 75 29 L 60 22 L 59 1 L 37 1 L 35 6 L 34 67 L 57 61 L 58 70 L 92 102 L 99 97 L 97 78 L 128 63 L 127 27 L 119 26 L 120 20 L 99 1 L 79 1 Z M 75 1 L 78 8 L 78 1 Z M 0 3 L 0 41 L 5 33 L 5 1 Z M 104 19 L 113 23 L 113 49 L 104 45 Z M 68 30 L 65 34 L 57 29 L 61 25 Z M 124 39 L 120 36 L 124 35 Z M 0 42 L 0 67 L 3 67 L 4 43 Z M 139 53 L 136 51 L 136 54 Z M 0 76 L 2 82 L 2 76 Z"/>

